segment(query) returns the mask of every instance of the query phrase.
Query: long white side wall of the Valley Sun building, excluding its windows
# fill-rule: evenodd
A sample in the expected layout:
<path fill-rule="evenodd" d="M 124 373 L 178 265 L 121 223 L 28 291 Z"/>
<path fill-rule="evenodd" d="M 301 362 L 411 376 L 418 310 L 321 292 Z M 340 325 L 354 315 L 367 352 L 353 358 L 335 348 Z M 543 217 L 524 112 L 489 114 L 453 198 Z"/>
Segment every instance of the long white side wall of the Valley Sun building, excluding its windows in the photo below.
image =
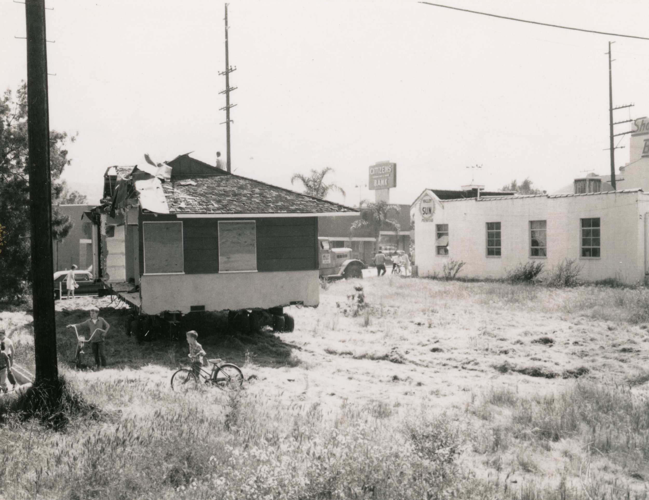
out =
<path fill-rule="evenodd" d="M 420 276 L 441 274 L 450 258 L 466 262 L 458 276 L 474 278 L 503 278 L 508 269 L 530 260 L 541 260 L 550 269 L 566 258 L 576 258 L 583 265 L 580 277 L 585 281 L 613 278 L 632 284 L 644 280 L 644 214 L 649 212 L 648 194 L 434 200 L 435 212 L 430 222 L 422 221 L 419 200 L 411 208 Z M 582 258 L 580 219 L 596 217 L 601 225 L 601 256 Z M 546 258 L 530 257 L 530 221 L 536 220 L 545 220 L 547 224 Z M 487 222 L 500 222 L 499 257 L 486 255 Z M 448 256 L 435 255 L 437 224 L 448 224 Z"/>

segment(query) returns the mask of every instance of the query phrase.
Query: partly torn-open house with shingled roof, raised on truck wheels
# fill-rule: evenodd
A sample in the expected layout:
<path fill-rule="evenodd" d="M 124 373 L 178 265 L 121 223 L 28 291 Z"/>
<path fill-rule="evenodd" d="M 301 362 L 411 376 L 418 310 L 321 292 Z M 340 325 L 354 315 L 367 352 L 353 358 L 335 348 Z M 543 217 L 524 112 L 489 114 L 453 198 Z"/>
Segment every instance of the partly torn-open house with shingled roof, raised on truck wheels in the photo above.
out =
<path fill-rule="evenodd" d="M 104 181 L 103 279 L 143 315 L 317 306 L 318 219 L 358 214 L 189 155 Z"/>

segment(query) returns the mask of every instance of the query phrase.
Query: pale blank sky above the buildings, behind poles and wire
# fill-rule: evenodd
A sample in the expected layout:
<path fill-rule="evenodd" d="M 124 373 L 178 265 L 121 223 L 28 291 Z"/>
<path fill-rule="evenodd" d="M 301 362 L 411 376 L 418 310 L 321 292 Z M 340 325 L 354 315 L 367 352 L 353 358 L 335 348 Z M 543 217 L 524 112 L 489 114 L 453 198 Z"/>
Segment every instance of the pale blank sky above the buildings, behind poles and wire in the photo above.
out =
<path fill-rule="evenodd" d="M 646 1 L 439 1 L 649 36 Z M 225 156 L 222 2 L 46 6 L 50 125 L 79 132 L 68 181 L 101 186 L 107 166 L 143 153 L 160 162 L 193 151 L 210 164 L 216 151 Z M 330 199 L 349 205 L 373 199 L 364 184 L 380 160 L 397 163 L 395 203 L 473 176 L 492 190 L 530 177 L 552 192 L 585 171 L 608 173 L 609 40 L 614 105 L 649 114 L 649 41 L 416 1 L 234 0 L 228 20 L 233 171 L 291 188 L 293 173 L 330 166 L 347 191 Z M 0 89 L 15 90 L 27 74 L 25 40 L 14 38 L 25 36 L 24 5 L 1 0 L 0 36 Z M 617 111 L 615 121 L 629 116 Z M 628 146 L 616 158 L 627 162 Z"/>

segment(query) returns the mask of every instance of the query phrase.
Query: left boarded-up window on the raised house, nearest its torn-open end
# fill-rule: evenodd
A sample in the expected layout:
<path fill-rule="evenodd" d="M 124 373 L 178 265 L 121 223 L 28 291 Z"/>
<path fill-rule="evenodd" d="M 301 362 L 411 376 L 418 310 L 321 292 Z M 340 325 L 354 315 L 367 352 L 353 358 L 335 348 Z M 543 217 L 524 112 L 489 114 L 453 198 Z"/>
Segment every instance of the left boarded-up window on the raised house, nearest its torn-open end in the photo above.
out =
<path fill-rule="evenodd" d="M 182 222 L 143 222 L 144 273 L 184 272 Z"/>

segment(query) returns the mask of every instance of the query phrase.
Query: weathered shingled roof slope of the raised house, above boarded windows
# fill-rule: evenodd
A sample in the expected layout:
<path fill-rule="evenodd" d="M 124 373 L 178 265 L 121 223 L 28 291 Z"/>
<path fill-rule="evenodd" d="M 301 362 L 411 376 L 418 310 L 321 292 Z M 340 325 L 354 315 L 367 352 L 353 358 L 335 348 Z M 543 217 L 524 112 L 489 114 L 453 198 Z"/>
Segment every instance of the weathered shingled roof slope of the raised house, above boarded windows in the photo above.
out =
<path fill-rule="evenodd" d="M 170 214 L 354 214 L 358 210 L 239 175 L 171 179 Z"/>

